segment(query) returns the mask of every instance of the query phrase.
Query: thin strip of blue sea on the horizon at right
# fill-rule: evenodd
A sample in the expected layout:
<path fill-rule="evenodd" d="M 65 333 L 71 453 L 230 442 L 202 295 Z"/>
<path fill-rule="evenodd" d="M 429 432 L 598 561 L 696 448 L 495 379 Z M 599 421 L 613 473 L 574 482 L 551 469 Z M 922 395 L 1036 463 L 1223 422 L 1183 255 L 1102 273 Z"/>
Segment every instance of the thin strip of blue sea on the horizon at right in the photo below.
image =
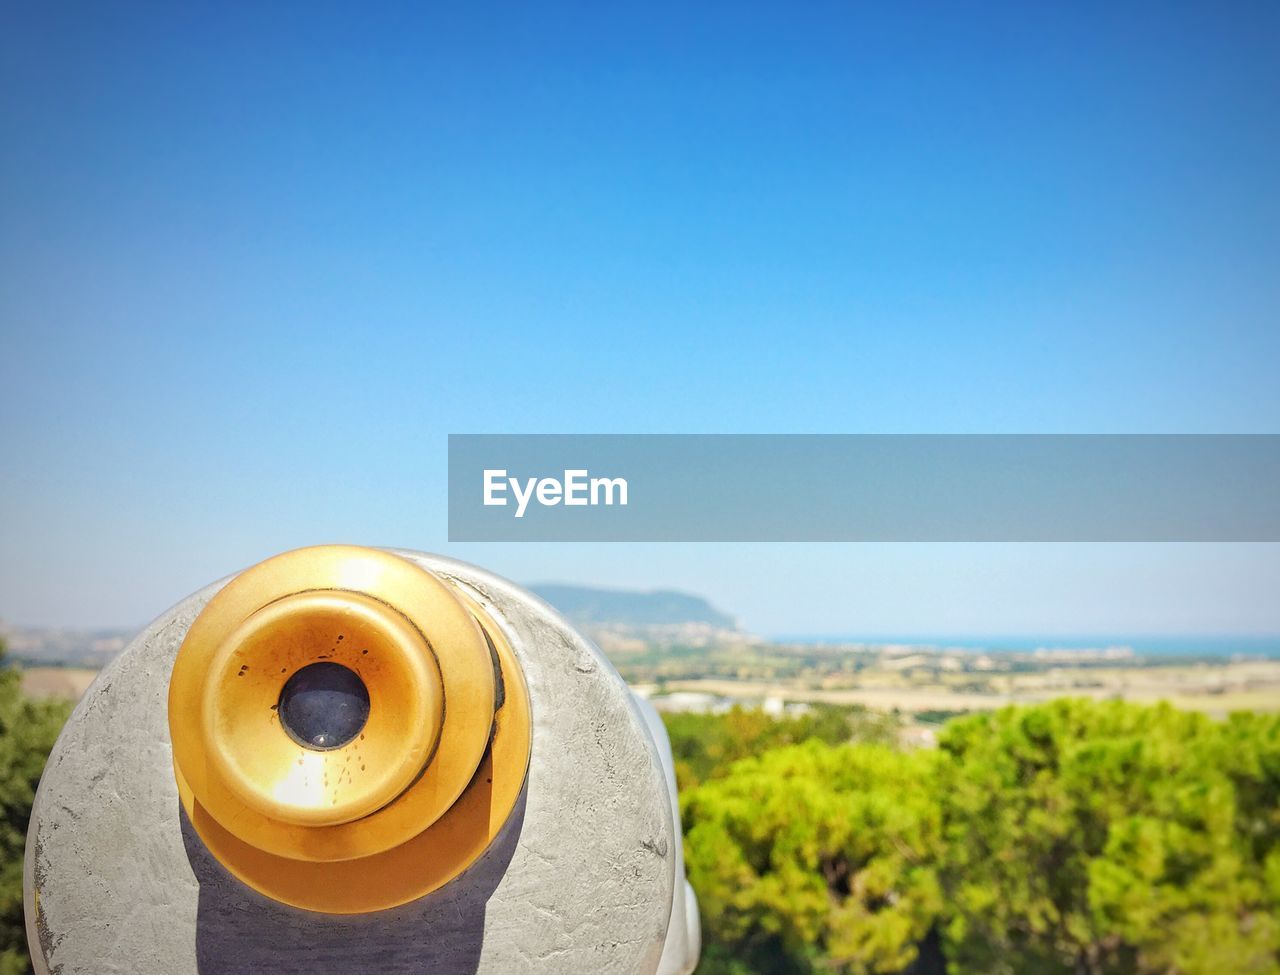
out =
<path fill-rule="evenodd" d="M 946 636 L 886 633 L 787 633 L 771 637 L 786 644 L 895 644 L 974 653 L 1036 650 L 1107 650 L 1121 647 L 1139 656 L 1265 656 L 1280 659 L 1280 636 Z"/>

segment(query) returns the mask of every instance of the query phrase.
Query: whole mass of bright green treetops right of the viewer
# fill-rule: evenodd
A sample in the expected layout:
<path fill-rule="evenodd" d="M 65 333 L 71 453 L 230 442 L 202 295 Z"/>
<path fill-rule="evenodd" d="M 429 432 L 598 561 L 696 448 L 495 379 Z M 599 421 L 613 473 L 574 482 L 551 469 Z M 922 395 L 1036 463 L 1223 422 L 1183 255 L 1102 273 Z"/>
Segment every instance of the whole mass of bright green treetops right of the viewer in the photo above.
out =
<path fill-rule="evenodd" d="M 814 736 L 712 769 L 684 818 L 701 971 L 1280 972 L 1280 715 L 1068 699 L 932 752 Z"/>

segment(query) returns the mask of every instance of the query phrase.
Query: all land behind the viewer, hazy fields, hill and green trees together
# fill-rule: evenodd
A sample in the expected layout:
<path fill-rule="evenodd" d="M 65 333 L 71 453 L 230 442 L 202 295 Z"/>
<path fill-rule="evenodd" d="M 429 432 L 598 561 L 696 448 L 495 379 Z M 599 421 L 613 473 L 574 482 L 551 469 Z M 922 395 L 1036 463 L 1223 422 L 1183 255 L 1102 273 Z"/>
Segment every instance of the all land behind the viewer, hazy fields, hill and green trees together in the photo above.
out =
<path fill-rule="evenodd" d="M 663 713 L 698 975 L 1280 972 L 1280 659 L 1257 644 L 768 640 L 689 594 L 534 590 Z M 0 633 L 13 821 L 129 638 Z M 0 971 L 27 970 L 19 879 Z"/>

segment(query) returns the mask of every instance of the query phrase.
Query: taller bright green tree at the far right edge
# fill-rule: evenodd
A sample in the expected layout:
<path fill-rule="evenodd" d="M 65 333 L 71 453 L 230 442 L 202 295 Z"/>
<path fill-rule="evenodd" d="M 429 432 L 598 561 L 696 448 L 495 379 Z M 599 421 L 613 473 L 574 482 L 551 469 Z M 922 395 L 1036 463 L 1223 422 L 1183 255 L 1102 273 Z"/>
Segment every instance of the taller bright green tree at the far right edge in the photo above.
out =
<path fill-rule="evenodd" d="M 1059 700 L 952 722 L 955 975 L 1280 972 L 1274 720 Z"/>

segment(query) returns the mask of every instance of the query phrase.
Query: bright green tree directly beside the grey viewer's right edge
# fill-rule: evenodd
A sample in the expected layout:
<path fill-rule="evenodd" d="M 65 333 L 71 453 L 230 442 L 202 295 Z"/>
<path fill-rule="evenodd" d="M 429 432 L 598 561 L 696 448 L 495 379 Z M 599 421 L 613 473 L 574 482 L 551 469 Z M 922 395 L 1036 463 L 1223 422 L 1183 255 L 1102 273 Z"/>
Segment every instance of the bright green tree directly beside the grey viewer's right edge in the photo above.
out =
<path fill-rule="evenodd" d="M 819 741 L 735 764 L 684 801 L 703 972 L 910 966 L 941 908 L 933 755 Z"/>

